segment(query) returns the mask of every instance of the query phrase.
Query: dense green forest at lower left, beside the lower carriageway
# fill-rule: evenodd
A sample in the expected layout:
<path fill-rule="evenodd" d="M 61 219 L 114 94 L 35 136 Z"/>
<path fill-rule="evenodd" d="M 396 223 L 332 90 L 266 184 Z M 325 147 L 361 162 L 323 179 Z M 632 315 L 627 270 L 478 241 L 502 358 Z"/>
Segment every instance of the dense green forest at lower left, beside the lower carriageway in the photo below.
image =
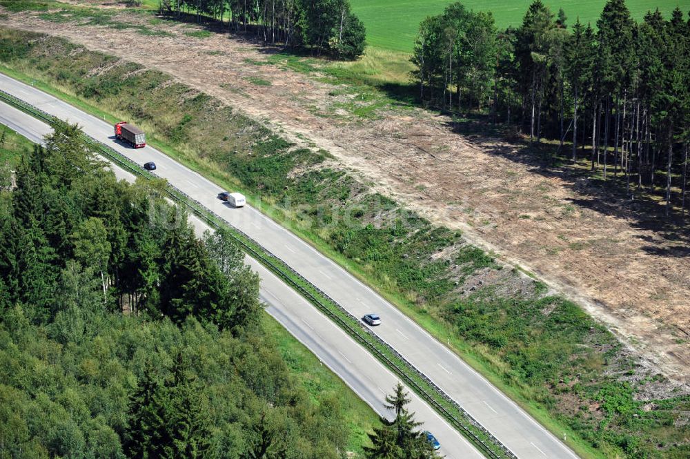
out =
<path fill-rule="evenodd" d="M 341 457 L 342 401 L 293 382 L 244 254 L 80 138 L 1 184 L 0 457 Z"/>

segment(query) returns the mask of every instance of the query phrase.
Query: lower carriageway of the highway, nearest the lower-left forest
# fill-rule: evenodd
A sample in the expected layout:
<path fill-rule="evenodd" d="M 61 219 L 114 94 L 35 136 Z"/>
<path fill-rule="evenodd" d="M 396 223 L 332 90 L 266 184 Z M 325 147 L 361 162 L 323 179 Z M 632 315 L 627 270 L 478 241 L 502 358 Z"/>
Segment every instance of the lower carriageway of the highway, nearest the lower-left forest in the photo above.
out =
<path fill-rule="evenodd" d="M 4 124 L 35 143 L 42 143 L 43 136 L 50 133 L 50 126 L 0 102 L 0 124 Z M 115 176 L 128 182 L 136 177 L 111 165 Z M 189 215 L 190 223 L 197 235 L 210 228 L 195 215 Z M 339 376 L 359 398 L 362 398 L 376 413 L 392 419 L 391 411 L 384 405 L 384 396 L 391 393 L 400 380 L 386 369 L 366 349 L 355 342 L 331 320 L 318 311 L 313 304 L 298 295 L 282 280 L 268 271 L 262 264 L 246 257 L 254 271 L 261 277 L 259 296 L 268 305 L 266 311 L 273 316 L 297 340 L 312 351 L 319 360 Z M 477 451 L 460 433 L 441 418 L 431 407 L 410 391 L 411 411 L 417 420 L 424 422 L 424 428 L 432 431 L 441 442 L 440 452 L 449 459 L 481 459 Z"/>

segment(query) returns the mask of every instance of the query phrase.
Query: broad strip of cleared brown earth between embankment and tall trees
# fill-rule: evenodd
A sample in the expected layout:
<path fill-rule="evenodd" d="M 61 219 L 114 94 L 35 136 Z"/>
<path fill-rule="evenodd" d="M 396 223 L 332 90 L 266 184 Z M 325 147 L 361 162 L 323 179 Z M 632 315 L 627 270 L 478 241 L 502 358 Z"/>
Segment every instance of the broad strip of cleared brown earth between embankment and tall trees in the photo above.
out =
<path fill-rule="evenodd" d="M 348 110 L 357 106 L 351 89 L 268 64 L 275 50 L 242 37 L 199 39 L 185 35 L 189 26 L 169 24 L 156 28 L 172 37 L 143 36 L 30 13 L 2 22 L 161 70 L 297 144 L 328 150 L 382 193 L 536 273 L 662 373 L 690 383 L 687 239 L 666 239 L 637 204 L 614 202 L 587 178 L 542 168 L 521 146 L 458 135 L 449 117 L 389 106 L 373 119 L 357 117 Z"/>

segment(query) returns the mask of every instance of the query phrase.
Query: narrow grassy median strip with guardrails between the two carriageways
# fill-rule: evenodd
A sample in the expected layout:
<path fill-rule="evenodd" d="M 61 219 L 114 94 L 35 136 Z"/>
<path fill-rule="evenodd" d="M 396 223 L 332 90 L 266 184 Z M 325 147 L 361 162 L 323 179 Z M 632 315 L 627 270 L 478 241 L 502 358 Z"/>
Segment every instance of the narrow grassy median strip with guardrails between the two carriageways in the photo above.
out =
<path fill-rule="evenodd" d="M 45 121 L 49 125 L 52 125 L 55 122 L 55 117 L 52 115 L 26 103 L 25 101 L 22 101 L 21 99 L 17 99 L 8 92 L 0 90 L 0 99 L 12 104 L 13 106 L 16 106 L 29 115 Z M 155 175 L 149 173 L 147 170 L 144 170 L 141 168 L 141 166 L 133 162 L 128 157 L 110 148 L 110 146 L 106 146 L 97 139 L 93 139 L 86 134 L 84 135 L 84 138 L 88 144 L 95 147 L 95 149 L 97 149 L 101 155 L 110 159 L 112 162 L 117 164 L 117 166 L 130 171 L 130 173 L 133 173 L 134 175 L 141 175 L 148 178 L 155 177 Z M 268 249 L 264 248 L 261 244 L 253 240 L 248 234 L 244 233 L 244 231 L 240 230 L 239 228 L 235 228 L 235 226 L 226 222 L 226 220 L 220 217 L 220 215 L 210 211 L 210 209 L 206 208 L 203 204 L 201 204 L 201 202 L 189 197 L 179 188 L 168 184 L 166 191 L 170 199 L 189 208 L 197 217 L 206 222 L 206 224 L 208 224 L 211 228 L 228 229 L 230 231 L 230 235 L 233 236 L 235 241 L 242 246 L 244 251 L 248 253 L 250 257 L 253 257 L 255 260 L 259 261 L 271 272 L 275 273 L 275 275 L 284 280 L 284 282 L 292 286 L 293 289 L 300 293 L 300 295 L 304 296 L 307 300 L 309 300 L 309 302 L 317 306 L 320 311 L 334 320 L 342 329 L 344 329 L 344 331 L 346 331 L 346 333 L 348 333 L 348 335 L 366 347 L 366 349 L 373 353 L 377 359 L 381 360 L 389 369 L 393 370 L 395 374 L 399 375 L 400 378 L 402 378 L 402 380 L 408 384 L 408 386 L 412 387 L 415 393 L 420 395 L 420 397 L 426 400 L 426 402 L 431 404 L 436 411 L 442 414 L 446 420 L 453 424 L 456 429 L 458 429 L 466 438 L 473 442 L 473 444 L 487 457 L 492 459 L 517 459 L 515 453 L 510 451 L 510 449 L 503 445 L 500 440 L 495 438 L 495 436 L 484 428 L 479 421 L 465 411 L 460 404 L 455 402 L 450 395 L 438 387 L 437 384 L 431 380 L 431 378 L 428 378 L 428 376 L 422 373 L 422 371 L 418 370 L 411 362 L 404 358 L 402 354 L 396 351 L 393 346 L 382 340 L 382 338 L 373 333 L 373 331 L 362 326 L 359 319 L 347 311 L 337 301 L 333 300 L 328 293 L 322 291 L 322 289 L 319 289 L 319 287 L 307 280 L 303 275 L 295 271 L 295 269 L 290 267 L 290 265 L 282 260 L 282 258 L 268 251 Z M 321 298 L 319 298 L 319 296 Z M 333 310 L 334 308 L 335 311 Z M 393 359 L 398 360 L 398 362 L 395 362 Z M 402 362 L 404 365 L 401 366 L 400 362 Z M 420 382 L 422 384 L 426 384 L 428 388 L 423 387 Z M 433 393 L 430 393 L 428 389 L 432 389 L 436 396 L 433 395 Z M 439 398 L 441 400 L 438 400 Z M 456 416 L 456 413 L 451 412 L 451 410 L 460 413 L 462 419 Z M 482 436 L 484 438 L 481 438 Z"/>

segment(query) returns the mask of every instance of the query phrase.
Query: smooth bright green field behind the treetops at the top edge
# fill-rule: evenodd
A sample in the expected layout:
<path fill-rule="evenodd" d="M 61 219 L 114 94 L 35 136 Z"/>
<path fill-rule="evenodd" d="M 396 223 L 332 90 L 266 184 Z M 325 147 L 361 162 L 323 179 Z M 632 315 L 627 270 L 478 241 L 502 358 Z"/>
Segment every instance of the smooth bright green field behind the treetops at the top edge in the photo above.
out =
<path fill-rule="evenodd" d="M 353 10 L 366 26 L 366 40 L 371 46 L 390 50 L 412 50 L 417 28 L 427 16 L 443 11 L 446 5 L 455 0 L 350 0 Z M 568 24 L 580 21 L 595 25 L 604 8 L 606 0 L 542 0 L 553 12 L 563 8 Z M 498 28 L 519 26 L 524 12 L 532 0 L 464 0 L 461 3 L 471 10 L 491 11 Z M 628 0 L 628 8 L 635 19 L 642 19 L 644 13 L 659 8 L 668 15 L 673 8 L 680 6 L 684 12 L 690 11 L 690 0 Z"/>

